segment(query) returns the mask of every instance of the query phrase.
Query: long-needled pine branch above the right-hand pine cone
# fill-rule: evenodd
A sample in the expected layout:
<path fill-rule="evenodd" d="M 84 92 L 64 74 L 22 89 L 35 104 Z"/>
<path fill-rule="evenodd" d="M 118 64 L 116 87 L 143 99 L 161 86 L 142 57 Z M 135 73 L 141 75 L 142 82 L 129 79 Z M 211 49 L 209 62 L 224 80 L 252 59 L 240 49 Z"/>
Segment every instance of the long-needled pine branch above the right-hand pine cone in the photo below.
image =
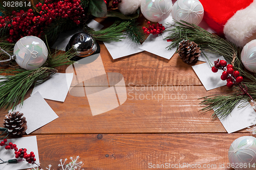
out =
<path fill-rule="evenodd" d="M 209 33 L 199 26 L 182 20 L 175 21 L 175 25 L 168 25 L 171 27 L 167 29 L 169 34 L 165 39 L 173 39 L 173 43 L 168 46 L 168 50 L 178 46 L 179 42 L 183 39 L 189 39 L 200 45 L 202 50 L 217 53 L 223 56 L 228 62 L 231 62 L 233 57 L 236 56 L 234 67 L 243 67 L 241 60 L 239 60 L 242 51 L 241 47 L 237 47 L 232 42 L 225 40 L 216 34 Z"/>

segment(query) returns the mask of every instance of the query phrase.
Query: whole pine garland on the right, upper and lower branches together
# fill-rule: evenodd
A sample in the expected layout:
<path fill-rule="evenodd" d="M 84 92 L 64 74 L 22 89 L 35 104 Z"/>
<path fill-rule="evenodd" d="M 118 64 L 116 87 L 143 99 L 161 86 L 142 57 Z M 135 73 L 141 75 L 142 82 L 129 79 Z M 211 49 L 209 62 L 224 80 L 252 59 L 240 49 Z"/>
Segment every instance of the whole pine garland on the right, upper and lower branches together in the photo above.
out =
<path fill-rule="evenodd" d="M 168 46 L 168 50 L 173 47 L 179 46 L 182 40 L 190 40 L 196 42 L 202 50 L 217 53 L 225 58 L 226 61 L 232 63 L 233 68 L 238 70 L 242 77 L 246 78 L 244 80 L 244 87 L 246 87 L 246 92 L 242 91 L 241 87 L 235 86 L 231 90 L 233 93 L 221 95 L 214 94 L 205 96 L 201 105 L 208 105 L 201 109 L 202 111 L 215 110 L 212 117 L 225 117 L 237 106 L 241 101 L 251 101 L 254 104 L 256 99 L 256 75 L 250 74 L 244 70 L 244 66 L 241 62 L 241 47 L 236 46 L 232 42 L 225 40 L 216 34 L 209 33 L 208 31 L 187 23 L 185 21 L 175 21 L 175 25 L 170 25 L 171 27 L 167 30 L 169 32 L 166 39 L 173 39 L 173 43 Z M 208 60 L 209 61 L 209 60 Z M 209 64 L 212 65 L 212 63 Z M 213 65 L 212 65 L 213 66 Z M 249 94 L 249 95 L 248 95 Z M 243 104 L 240 107 L 245 106 Z"/>

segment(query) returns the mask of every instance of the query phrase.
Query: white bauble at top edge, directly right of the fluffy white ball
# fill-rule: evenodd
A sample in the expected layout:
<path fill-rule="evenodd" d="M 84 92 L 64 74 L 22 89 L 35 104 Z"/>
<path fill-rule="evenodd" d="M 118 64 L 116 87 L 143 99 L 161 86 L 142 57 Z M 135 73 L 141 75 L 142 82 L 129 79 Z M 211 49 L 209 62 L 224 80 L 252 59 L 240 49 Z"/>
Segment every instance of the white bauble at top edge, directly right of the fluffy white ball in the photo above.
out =
<path fill-rule="evenodd" d="M 140 9 L 144 17 L 153 22 L 166 19 L 173 8 L 172 0 L 142 0 Z"/>

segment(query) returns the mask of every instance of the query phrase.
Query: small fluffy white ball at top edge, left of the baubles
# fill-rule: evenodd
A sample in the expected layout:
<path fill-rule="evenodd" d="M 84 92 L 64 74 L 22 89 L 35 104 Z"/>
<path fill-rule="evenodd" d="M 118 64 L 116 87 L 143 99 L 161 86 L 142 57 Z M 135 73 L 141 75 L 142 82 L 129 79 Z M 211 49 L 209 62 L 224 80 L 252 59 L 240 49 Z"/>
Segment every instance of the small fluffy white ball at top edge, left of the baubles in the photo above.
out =
<path fill-rule="evenodd" d="M 118 4 L 119 11 L 124 15 L 134 14 L 139 8 L 141 0 L 122 0 Z"/>

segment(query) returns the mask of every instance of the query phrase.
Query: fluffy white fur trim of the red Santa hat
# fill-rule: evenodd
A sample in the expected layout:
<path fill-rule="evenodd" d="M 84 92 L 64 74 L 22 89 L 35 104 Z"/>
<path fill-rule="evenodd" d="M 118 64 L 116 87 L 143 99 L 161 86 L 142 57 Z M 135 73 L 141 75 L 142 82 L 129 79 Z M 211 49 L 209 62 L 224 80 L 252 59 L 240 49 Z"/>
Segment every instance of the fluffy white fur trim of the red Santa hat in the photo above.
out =
<path fill-rule="evenodd" d="M 256 39 L 256 0 L 247 8 L 237 11 L 225 24 L 225 37 L 234 44 L 243 47 Z"/>

